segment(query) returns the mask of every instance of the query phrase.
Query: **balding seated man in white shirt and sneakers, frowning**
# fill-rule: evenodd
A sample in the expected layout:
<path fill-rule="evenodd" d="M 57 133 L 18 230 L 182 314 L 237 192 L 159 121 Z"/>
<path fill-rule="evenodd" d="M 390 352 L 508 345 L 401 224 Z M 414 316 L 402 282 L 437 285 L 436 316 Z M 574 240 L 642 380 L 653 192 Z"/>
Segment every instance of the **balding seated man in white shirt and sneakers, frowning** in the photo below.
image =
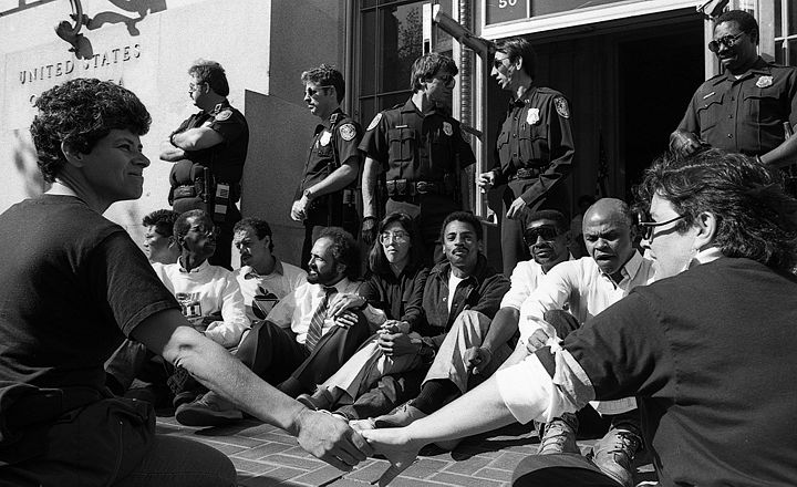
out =
<path fill-rule="evenodd" d="M 632 289 L 653 281 L 652 261 L 633 247 L 634 221 L 629 206 L 620 199 L 603 198 L 589 207 L 583 217 L 589 257 L 551 269 L 520 308 L 521 341 L 528 350 L 545 346 L 551 336 L 563 339 Z M 565 309 L 570 312 L 560 311 Z M 525 356 L 526 349 L 520 344 L 518 353 Z M 636 402 L 628 397 L 592 406 L 610 419 L 611 428 L 593 445 L 590 457 L 608 476 L 630 486 L 631 462 L 642 446 Z M 578 427 L 579 418 L 570 413 L 547 422 L 539 454 L 580 454 Z"/>

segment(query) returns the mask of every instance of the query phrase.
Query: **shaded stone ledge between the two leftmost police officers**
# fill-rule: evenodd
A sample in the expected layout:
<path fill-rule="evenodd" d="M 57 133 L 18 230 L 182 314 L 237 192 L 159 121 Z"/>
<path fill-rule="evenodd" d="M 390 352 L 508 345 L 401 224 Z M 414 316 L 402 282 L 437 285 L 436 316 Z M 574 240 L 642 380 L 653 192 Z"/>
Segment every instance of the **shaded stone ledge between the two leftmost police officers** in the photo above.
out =
<path fill-rule="evenodd" d="M 304 227 L 290 219 L 290 208 L 319 120 L 309 114 L 300 96 L 286 101 L 247 91 L 245 103 L 249 152 L 241 183 L 241 213 L 268 221 L 275 253 L 299 266 Z"/>

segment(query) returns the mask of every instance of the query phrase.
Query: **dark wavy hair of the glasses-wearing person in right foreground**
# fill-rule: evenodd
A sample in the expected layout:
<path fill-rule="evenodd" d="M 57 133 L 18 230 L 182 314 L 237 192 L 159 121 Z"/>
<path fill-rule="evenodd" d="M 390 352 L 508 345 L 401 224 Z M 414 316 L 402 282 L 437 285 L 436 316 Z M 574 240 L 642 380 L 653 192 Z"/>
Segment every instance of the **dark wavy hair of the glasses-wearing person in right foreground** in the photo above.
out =
<path fill-rule="evenodd" d="M 640 205 L 653 195 L 684 218 L 683 234 L 703 211 L 717 220 L 714 244 L 727 257 L 756 260 L 789 271 L 797 259 L 797 200 L 783 190 L 779 173 L 753 157 L 708 149 L 692 157 L 665 154 L 636 188 Z"/>

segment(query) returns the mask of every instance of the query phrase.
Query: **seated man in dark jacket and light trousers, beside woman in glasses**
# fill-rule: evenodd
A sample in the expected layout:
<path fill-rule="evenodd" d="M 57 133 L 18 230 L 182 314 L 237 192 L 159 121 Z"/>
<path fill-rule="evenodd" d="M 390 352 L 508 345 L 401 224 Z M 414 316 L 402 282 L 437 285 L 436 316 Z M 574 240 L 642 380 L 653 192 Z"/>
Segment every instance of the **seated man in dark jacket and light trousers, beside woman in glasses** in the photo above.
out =
<path fill-rule="evenodd" d="M 468 373 L 466 350 L 482 343 L 509 281 L 487 265 L 482 253 L 483 229 L 472 214 L 455 211 L 441 230 L 446 261 L 429 272 L 423 298 L 424 314 L 414 340 L 416 353 L 429 365 L 421 394 L 398 411 L 359 422 L 358 427 L 401 426 L 437 411 L 487 377 L 511 352 L 479 375 Z M 412 343 L 412 342 L 411 342 Z M 424 367 L 426 369 L 426 367 Z"/>

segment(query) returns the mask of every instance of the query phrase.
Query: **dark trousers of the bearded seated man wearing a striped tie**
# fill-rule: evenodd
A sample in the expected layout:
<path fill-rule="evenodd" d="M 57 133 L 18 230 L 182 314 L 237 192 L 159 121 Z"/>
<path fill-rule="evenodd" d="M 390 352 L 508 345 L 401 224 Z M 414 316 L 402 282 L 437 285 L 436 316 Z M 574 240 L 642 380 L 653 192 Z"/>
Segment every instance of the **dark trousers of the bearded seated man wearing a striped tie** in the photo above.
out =
<path fill-rule="evenodd" d="M 260 321 L 241 342 L 236 356 L 252 372 L 286 394 L 311 393 L 356 352 L 370 335 L 362 314 L 349 328 L 334 327 L 310 352 L 296 335 L 270 321 Z"/>

